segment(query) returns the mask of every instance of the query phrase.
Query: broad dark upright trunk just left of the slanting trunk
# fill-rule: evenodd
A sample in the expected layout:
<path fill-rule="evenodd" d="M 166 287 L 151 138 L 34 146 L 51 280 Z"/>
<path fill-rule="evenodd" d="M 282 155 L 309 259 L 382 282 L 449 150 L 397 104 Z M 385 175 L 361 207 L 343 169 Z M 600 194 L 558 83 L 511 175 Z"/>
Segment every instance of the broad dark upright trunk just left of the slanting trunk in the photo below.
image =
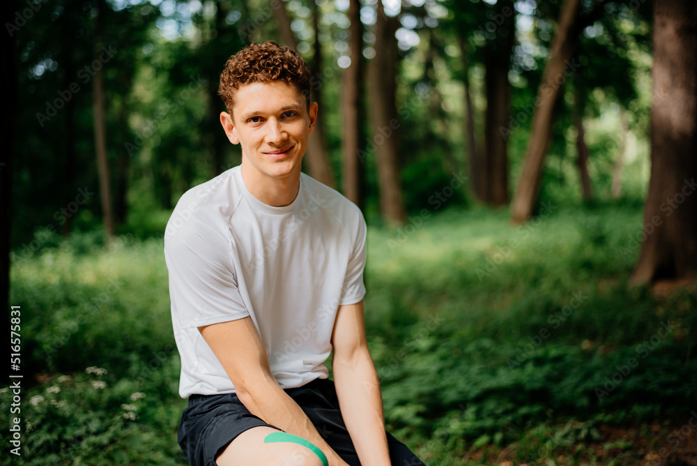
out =
<path fill-rule="evenodd" d="M 493 206 L 508 203 L 508 137 L 505 128 L 510 117 L 510 84 L 508 70 L 515 41 L 514 1 L 499 0 L 496 17 L 504 22 L 497 30 L 496 38 L 489 41 L 484 66 L 487 69 L 487 114 L 485 128 L 486 154 L 484 202 Z"/>

